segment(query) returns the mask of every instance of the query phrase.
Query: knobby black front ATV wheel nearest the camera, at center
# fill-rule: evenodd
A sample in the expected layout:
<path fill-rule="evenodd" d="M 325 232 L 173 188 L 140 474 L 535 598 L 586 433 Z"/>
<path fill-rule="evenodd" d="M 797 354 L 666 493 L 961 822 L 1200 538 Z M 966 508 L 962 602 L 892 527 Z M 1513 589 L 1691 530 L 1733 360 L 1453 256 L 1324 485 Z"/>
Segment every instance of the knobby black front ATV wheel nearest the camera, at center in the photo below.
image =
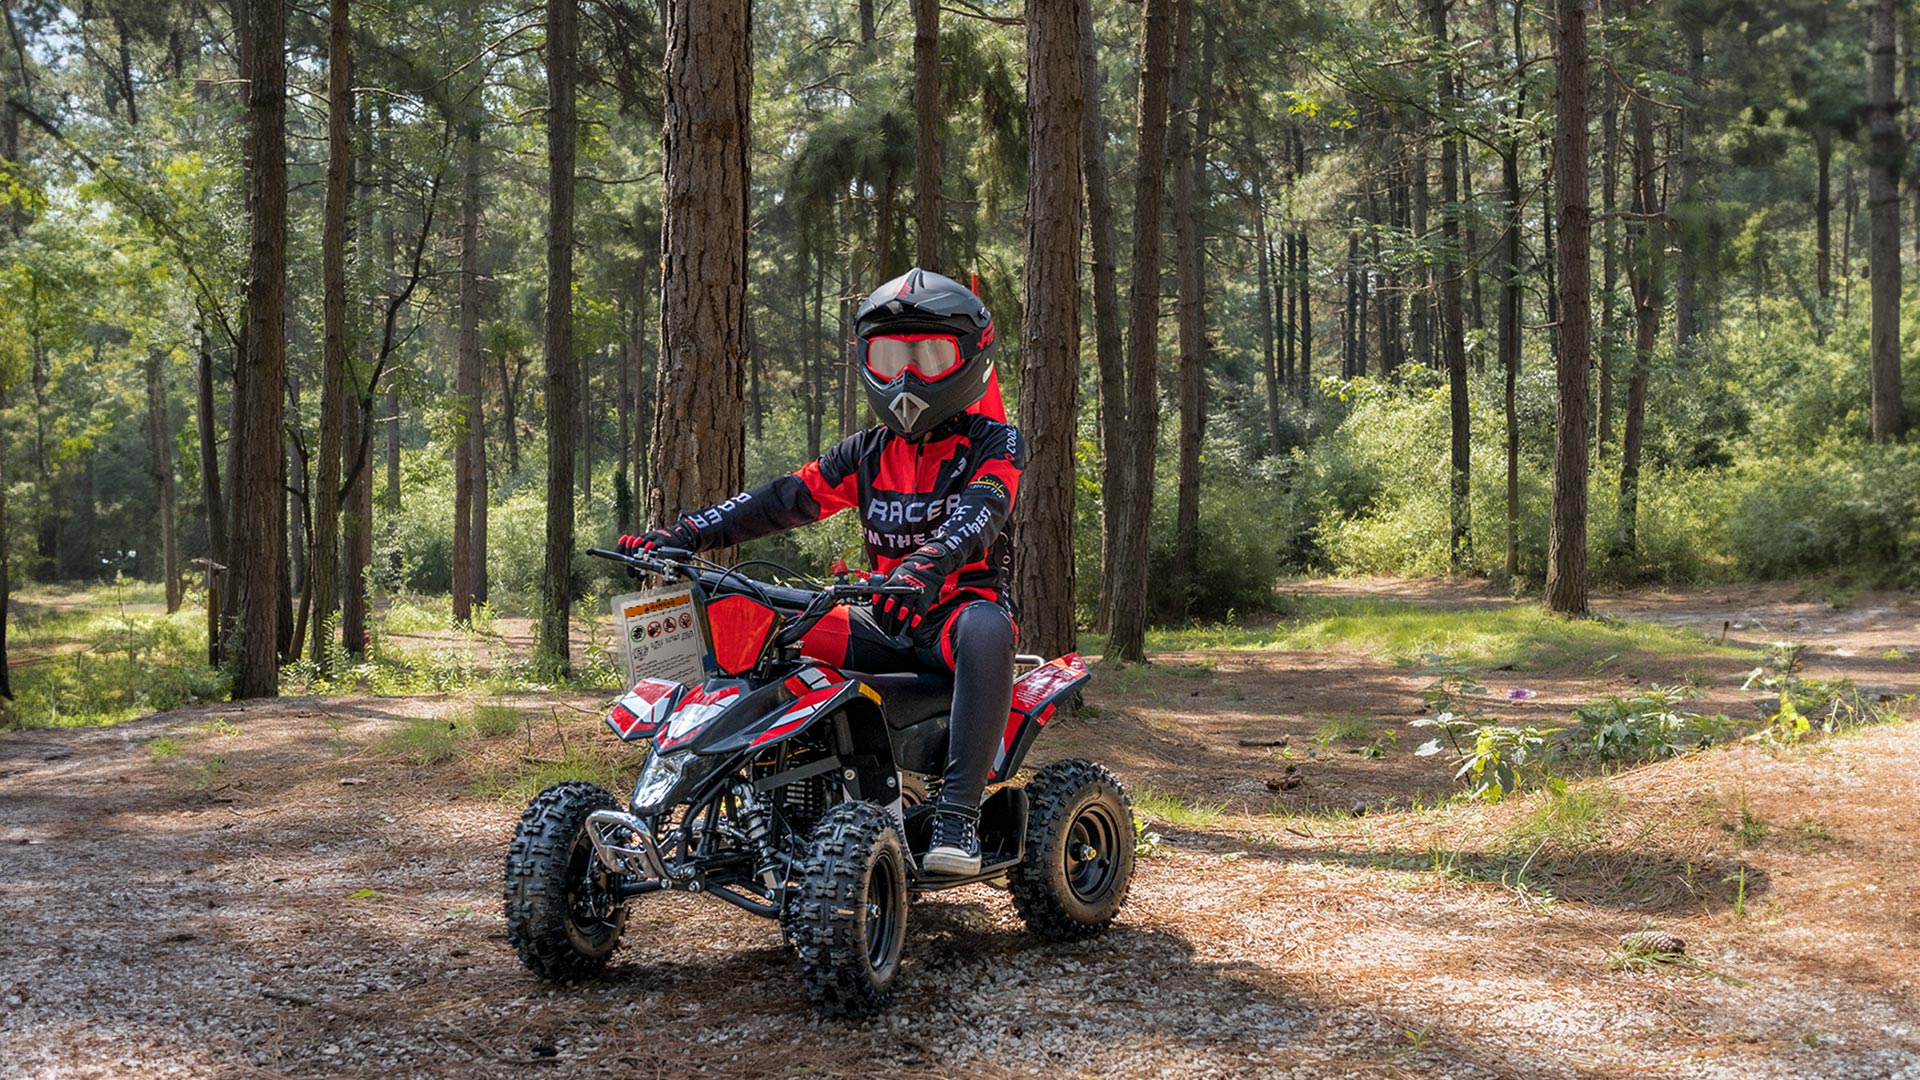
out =
<path fill-rule="evenodd" d="M 887 1007 L 906 944 L 906 851 L 885 809 L 841 803 L 820 819 L 785 928 L 820 1015 Z"/>

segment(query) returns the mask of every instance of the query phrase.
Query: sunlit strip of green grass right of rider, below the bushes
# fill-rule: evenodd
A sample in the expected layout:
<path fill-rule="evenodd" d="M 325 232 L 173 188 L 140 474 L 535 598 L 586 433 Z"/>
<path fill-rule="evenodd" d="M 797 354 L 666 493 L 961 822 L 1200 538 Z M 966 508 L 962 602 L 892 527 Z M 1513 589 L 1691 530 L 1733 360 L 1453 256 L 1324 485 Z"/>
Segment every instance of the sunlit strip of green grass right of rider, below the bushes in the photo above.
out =
<path fill-rule="evenodd" d="M 1106 640 L 1089 634 L 1085 648 L 1104 653 Z M 1471 667 L 1521 671 L 1603 671 L 1653 659 L 1753 655 L 1695 630 L 1630 619 L 1561 619 L 1534 603 L 1457 609 L 1346 596 L 1288 598 L 1277 623 L 1165 626 L 1146 634 L 1150 653 L 1329 648 L 1359 650 L 1402 665 L 1448 655 Z"/>

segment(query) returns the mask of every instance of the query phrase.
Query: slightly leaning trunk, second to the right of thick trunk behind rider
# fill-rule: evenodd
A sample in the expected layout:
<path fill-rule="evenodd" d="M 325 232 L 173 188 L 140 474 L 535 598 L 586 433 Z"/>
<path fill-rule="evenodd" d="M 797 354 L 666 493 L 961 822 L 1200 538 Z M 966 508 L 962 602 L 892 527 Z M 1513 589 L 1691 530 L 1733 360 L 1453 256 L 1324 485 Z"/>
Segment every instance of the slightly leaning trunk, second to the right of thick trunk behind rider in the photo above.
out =
<path fill-rule="evenodd" d="M 1108 521 L 1106 590 L 1114 598 L 1108 650 L 1121 661 L 1146 661 L 1146 563 L 1154 523 L 1154 455 L 1160 448 L 1160 211 L 1167 171 L 1167 69 L 1171 6 L 1192 0 L 1144 0 L 1140 21 L 1139 167 L 1133 181 L 1133 294 L 1127 327 L 1127 467 Z"/>

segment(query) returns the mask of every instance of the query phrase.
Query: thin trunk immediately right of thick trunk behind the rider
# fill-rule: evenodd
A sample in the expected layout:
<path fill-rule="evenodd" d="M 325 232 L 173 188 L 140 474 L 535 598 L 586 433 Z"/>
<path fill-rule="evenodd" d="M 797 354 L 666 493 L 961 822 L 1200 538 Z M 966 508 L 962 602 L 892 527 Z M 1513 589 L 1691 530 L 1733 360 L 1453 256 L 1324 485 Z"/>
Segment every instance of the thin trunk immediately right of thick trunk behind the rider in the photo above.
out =
<path fill-rule="evenodd" d="M 1127 455 L 1127 357 L 1119 336 L 1119 256 L 1114 240 L 1114 198 L 1108 194 L 1106 121 L 1100 115 L 1100 56 L 1094 50 L 1092 6 L 1081 0 L 1081 167 L 1087 194 L 1087 244 L 1092 252 L 1092 352 L 1100 388 L 1100 571 L 1102 588 L 1094 625 L 1114 623 L 1114 540 L 1119 534 L 1119 492 L 1125 488 Z"/>

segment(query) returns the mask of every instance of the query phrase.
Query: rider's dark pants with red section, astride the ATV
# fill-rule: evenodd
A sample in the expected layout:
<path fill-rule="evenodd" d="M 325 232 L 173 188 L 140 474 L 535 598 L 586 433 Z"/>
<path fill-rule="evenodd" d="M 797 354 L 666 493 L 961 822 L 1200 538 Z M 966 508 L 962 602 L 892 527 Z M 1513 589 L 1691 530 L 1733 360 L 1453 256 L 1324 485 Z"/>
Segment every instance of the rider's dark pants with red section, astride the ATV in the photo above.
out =
<path fill-rule="evenodd" d="M 950 671 L 954 707 L 947 734 L 947 776 L 941 801 L 977 809 L 1006 732 L 1014 698 L 1014 621 L 987 600 L 935 609 L 925 640 L 906 642 L 881 632 L 866 607 L 839 607 L 822 619 L 801 650 L 852 671 Z"/>

